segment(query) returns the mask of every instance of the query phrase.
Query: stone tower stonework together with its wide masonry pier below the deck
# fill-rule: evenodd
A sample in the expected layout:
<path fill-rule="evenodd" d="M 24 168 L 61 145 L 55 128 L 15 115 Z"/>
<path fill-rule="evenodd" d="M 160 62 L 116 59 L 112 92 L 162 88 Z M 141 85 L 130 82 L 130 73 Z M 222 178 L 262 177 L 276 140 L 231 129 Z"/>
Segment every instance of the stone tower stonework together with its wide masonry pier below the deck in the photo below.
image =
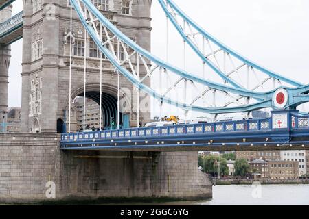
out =
<path fill-rule="evenodd" d="M 100 6 L 106 18 L 126 36 L 150 51 L 151 0 L 91 2 Z M 100 2 L 105 4 L 98 5 Z M 87 54 L 86 96 L 100 103 L 100 53 L 89 37 L 84 49 L 84 27 L 74 10 L 71 32 L 69 0 L 23 0 L 23 6 L 22 133 L 0 133 L 0 202 L 211 197 L 211 182 L 198 170 L 198 154 L 194 151 L 60 149 L 60 135 L 56 132 L 67 125 L 70 101 L 71 131 L 78 129 L 73 124 L 80 118 L 77 113 L 80 107 L 73 101 L 76 96 L 84 96 L 84 53 Z M 4 15 L 9 18 L 9 12 L 2 11 L 1 18 Z M 10 47 L 0 47 L 0 60 L 0 110 L 6 110 Z M 133 66 L 136 65 L 133 61 Z M 140 67 L 140 77 L 144 77 L 146 70 Z M 106 59 L 102 60 L 102 69 L 102 113 L 106 126 L 109 117 L 117 116 L 118 77 Z M 150 86 L 150 79 L 143 83 Z M 122 121 L 125 118 L 128 127 L 135 127 L 137 90 L 122 75 L 120 88 Z M 150 119 L 150 96 L 145 97 L 141 92 L 139 95 L 140 121 L 146 123 Z M 54 190 L 55 196 L 49 196 L 49 189 Z"/>

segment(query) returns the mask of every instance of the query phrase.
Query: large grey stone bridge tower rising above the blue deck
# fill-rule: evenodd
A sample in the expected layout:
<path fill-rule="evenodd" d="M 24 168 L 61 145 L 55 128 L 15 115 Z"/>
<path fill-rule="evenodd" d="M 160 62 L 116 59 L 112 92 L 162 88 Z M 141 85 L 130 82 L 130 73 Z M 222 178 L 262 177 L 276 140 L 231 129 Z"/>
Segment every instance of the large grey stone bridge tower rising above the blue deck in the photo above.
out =
<path fill-rule="evenodd" d="M 150 51 L 151 0 L 92 1 L 121 31 Z M 65 122 L 69 109 L 69 0 L 25 0 L 23 26 L 22 113 L 23 132 L 56 132 L 57 122 Z M 83 96 L 84 53 L 87 54 L 86 96 L 100 103 L 100 57 L 88 38 L 84 49 L 84 28 L 73 11 L 72 100 Z M 105 125 L 109 116 L 117 115 L 117 75 L 108 60 L 103 60 L 102 113 Z M 146 73 L 141 73 L 141 77 Z M 121 77 L 120 87 L 126 92 L 121 107 L 131 105 L 126 118 L 136 125 L 136 96 L 133 85 Z M 150 85 L 150 81 L 147 81 Z M 133 98 L 129 99 L 131 92 Z M 140 94 L 150 109 L 150 98 Z M 71 101 L 72 101 L 71 100 Z M 2 104 L 2 103 L 1 103 Z M 116 107 L 115 107 L 116 106 Z M 150 119 L 150 110 L 140 114 Z M 122 119 L 125 112 L 122 113 Z M 81 118 L 82 119 L 82 118 Z M 72 127 L 71 131 L 74 128 Z"/>

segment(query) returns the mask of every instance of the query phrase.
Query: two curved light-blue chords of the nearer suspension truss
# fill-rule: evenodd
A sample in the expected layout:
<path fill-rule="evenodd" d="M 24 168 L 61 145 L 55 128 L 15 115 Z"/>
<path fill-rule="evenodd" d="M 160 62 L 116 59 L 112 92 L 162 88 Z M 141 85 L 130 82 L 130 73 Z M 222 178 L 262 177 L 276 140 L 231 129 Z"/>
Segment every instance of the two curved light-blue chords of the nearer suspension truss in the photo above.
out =
<path fill-rule="evenodd" d="M 71 0 L 73 7 L 75 8 L 76 12 L 78 13 L 78 16 L 80 20 L 82 21 L 82 24 L 84 25 L 85 29 L 87 29 L 88 34 L 93 38 L 95 44 L 97 44 L 98 48 L 104 55 L 108 58 L 108 60 L 115 66 L 117 70 L 119 70 L 122 75 L 124 75 L 130 83 L 133 83 L 137 88 L 140 90 L 146 92 L 147 94 L 150 94 L 150 96 L 153 96 L 155 99 L 159 99 L 160 101 L 163 101 L 165 103 L 169 103 L 171 105 L 175 105 L 177 107 L 183 108 L 183 110 L 193 110 L 198 112 L 205 112 L 209 114 L 221 114 L 221 113 L 231 113 L 231 112 L 248 112 L 252 110 L 258 110 L 261 108 L 266 107 L 272 107 L 275 108 L 273 105 L 273 95 L 275 94 L 276 90 L 272 90 L 270 92 L 253 92 L 248 91 L 243 88 L 233 88 L 230 86 L 225 86 L 220 83 L 215 83 L 212 81 L 208 81 L 206 79 L 203 79 L 201 77 L 198 77 L 196 75 L 192 75 L 190 73 L 185 72 L 184 70 L 181 70 L 179 68 L 176 68 L 167 62 L 164 62 L 163 60 L 160 60 L 159 58 L 155 57 L 145 49 L 139 47 L 133 40 L 130 40 L 126 35 L 124 35 L 119 29 L 117 29 L 110 21 L 108 21 L 107 18 L 97 9 L 95 6 L 91 3 L 91 1 L 88 0 L 80 0 L 84 5 L 87 6 L 89 12 L 93 14 L 95 19 L 98 19 L 104 27 L 106 27 L 109 31 L 111 31 L 119 40 L 122 40 L 122 42 L 126 43 L 129 47 L 133 48 L 137 53 L 143 55 L 144 57 L 148 58 L 148 60 L 151 60 L 152 62 L 155 62 L 158 64 L 158 66 L 161 66 L 162 68 L 171 70 L 172 72 L 176 73 L 177 75 L 188 79 L 192 81 L 196 81 L 198 83 L 201 83 L 205 86 L 208 86 L 209 88 L 214 88 L 216 90 L 222 90 L 225 92 L 230 92 L 233 94 L 239 94 L 242 96 L 249 96 L 257 99 L 262 99 L 262 101 L 258 101 L 258 103 L 248 104 L 248 105 L 241 105 L 236 107 L 200 107 L 195 105 L 187 105 L 185 103 L 179 103 L 178 101 L 174 101 L 172 99 L 167 98 L 166 96 L 162 96 L 161 94 L 158 94 L 155 92 L 155 90 L 152 90 L 152 88 L 149 88 L 145 84 L 141 83 L 132 73 L 130 73 L 126 68 L 121 66 L 117 60 L 115 59 L 115 56 L 109 51 L 102 40 L 100 39 L 100 36 L 98 36 L 98 31 L 95 31 L 93 29 L 93 26 L 89 21 L 84 18 L 83 11 L 78 5 L 78 1 Z M 289 107 L 295 107 L 301 103 L 304 103 L 308 100 L 308 96 L 306 96 L 306 92 L 308 92 L 308 86 L 302 86 L 300 88 L 285 88 L 289 94 L 288 103 L 284 108 Z M 295 98 L 294 98 L 295 96 Z"/>

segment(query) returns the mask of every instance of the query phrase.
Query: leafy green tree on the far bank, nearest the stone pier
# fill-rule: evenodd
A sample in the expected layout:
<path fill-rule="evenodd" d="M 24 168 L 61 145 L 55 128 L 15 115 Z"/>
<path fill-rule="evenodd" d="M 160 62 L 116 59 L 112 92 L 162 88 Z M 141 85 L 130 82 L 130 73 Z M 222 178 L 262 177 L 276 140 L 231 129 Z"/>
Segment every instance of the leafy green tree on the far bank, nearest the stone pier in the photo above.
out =
<path fill-rule="evenodd" d="M 209 155 L 203 159 L 204 172 L 211 174 L 212 176 L 218 175 L 220 160 L 220 175 L 229 175 L 229 167 L 227 166 L 227 160 L 218 155 Z"/>

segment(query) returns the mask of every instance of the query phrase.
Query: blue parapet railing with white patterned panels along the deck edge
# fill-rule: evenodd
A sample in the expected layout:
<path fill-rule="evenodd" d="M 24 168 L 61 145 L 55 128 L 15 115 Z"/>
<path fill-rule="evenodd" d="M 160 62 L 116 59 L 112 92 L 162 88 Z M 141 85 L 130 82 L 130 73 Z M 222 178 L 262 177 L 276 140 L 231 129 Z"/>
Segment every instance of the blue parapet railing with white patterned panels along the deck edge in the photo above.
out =
<path fill-rule="evenodd" d="M 294 117 L 294 118 L 293 118 Z M 291 115 L 287 129 L 308 129 L 308 116 Z M 272 118 L 259 120 L 239 120 L 217 123 L 198 123 L 192 125 L 170 125 L 165 127 L 142 127 L 132 129 L 65 133 L 62 142 L 81 142 L 95 139 L 109 140 L 119 138 L 152 138 L 159 136 L 214 135 L 215 133 L 240 133 L 272 131 Z"/>

